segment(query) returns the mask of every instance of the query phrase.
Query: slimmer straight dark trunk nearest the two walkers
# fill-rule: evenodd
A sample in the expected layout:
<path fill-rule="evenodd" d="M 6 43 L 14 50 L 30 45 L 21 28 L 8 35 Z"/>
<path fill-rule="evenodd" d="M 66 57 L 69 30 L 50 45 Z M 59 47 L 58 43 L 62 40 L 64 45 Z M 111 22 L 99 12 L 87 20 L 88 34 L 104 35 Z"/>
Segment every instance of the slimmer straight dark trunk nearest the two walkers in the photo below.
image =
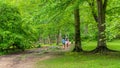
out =
<path fill-rule="evenodd" d="M 75 19 L 75 48 L 73 49 L 73 51 L 80 52 L 83 50 L 81 47 L 79 5 L 74 9 L 74 19 Z"/>

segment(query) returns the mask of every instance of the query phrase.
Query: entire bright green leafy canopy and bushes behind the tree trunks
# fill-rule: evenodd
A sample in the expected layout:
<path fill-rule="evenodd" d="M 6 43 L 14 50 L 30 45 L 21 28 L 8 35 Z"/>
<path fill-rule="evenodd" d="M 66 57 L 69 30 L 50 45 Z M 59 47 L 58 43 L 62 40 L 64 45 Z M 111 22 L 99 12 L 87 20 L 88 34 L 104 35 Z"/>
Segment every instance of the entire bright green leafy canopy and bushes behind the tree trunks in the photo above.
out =
<path fill-rule="evenodd" d="M 93 0 L 0 0 L 0 48 L 14 43 L 30 48 L 39 39 L 56 41 L 58 32 L 74 40 L 73 9 L 79 4 L 82 40 L 97 40 L 97 23 L 92 16 L 97 12 Z M 108 1 L 106 15 L 107 40 L 120 38 L 120 1 Z M 12 6 L 11 6 L 12 5 Z M 113 6 L 114 5 L 114 6 Z"/>

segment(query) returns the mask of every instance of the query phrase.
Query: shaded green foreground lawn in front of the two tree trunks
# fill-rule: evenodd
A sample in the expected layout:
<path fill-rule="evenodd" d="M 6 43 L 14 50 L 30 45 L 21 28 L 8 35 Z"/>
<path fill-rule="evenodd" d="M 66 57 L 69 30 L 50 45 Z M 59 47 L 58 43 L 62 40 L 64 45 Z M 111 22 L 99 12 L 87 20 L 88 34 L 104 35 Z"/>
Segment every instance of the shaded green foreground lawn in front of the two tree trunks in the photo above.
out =
<path fill-rule="evenodd" d="M 119 61 L 119 54 L 71 53 L 40 61 L 36 68 L 120 68 Z"/>

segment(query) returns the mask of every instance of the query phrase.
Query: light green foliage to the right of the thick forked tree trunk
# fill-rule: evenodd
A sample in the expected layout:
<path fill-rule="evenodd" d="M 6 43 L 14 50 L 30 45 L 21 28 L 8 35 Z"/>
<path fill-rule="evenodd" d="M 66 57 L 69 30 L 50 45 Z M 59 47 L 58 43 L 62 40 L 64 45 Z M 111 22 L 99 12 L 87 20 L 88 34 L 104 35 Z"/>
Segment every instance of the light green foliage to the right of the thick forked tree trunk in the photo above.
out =
<path fill-rule="evenodd" d="M 114 5 L 114 6 L 113 6 Z M 119 19 L 119 13 L 120 13 L 120 1 L 114 0 L 114 1 L 108 1 L 108 9 L 106 11 L 106 36 L 109 41 L 120 38 L 120 19 Z"/>

